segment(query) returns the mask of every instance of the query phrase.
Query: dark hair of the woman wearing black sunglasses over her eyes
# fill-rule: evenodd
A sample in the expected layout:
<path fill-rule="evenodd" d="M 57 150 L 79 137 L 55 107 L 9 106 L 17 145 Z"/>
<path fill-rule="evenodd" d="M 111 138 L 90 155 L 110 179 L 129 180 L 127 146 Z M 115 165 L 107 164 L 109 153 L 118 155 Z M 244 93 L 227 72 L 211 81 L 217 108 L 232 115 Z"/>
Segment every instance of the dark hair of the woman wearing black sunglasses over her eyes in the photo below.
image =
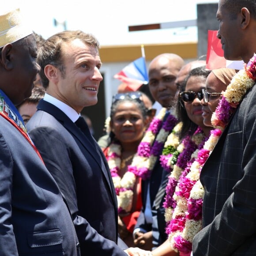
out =
<path fill-rule="evenodd" d="M 206 70 L 205 66 L 192 69 L 188 73 L 188 76 L 184 79 L 183 83 L 181 83 L 179 93 L 181 93 L 185 90 L 188 79 L 190 77 L 203 76 L 205 79 L 207 79 L 207 76 L 210 73 L 211 73 L 211 70 Z M 184 136 L 186 136 L 186 135 L 192 135 L 196 131 L 198 125 L 189 119 L 187 111 L 185 109 L 184 102 L 181 100 L 181 97 L 178 97 L 178 101 L 177 101 L 177 117 L 178 117 L 178 120 L 183 123 L 181 132 L 180 132 L 180 139 L 184 138 Z"/>

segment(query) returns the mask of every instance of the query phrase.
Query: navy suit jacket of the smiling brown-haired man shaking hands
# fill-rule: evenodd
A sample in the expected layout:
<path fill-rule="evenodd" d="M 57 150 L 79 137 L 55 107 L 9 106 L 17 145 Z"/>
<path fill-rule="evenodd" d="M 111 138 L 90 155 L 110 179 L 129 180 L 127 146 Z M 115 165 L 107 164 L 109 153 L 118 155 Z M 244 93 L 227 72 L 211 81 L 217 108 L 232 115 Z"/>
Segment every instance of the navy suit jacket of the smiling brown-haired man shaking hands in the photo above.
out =
<path fill-rule="evenodd" d="M 85 135 L 44 100 L 27 128 L 68 201 L 81 255 L 127 255 L 117 246 L 117 197 L 109 167 L 89 130 Z"/>

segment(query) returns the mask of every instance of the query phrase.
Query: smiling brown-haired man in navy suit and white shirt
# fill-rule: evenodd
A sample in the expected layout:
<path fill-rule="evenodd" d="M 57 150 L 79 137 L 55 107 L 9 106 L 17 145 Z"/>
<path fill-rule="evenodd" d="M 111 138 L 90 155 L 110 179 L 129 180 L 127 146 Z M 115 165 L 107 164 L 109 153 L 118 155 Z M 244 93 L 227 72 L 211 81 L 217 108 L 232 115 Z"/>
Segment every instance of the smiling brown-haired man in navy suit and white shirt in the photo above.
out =
<path fill-rule="evenodd" d="M 118 239 L 117 197 L 109 167 L 79 116 L 85 106 L 98 101 L 98 47 L 93 35 L 80 30 L 60 32 L 45 41 L 38 63 L 46 94 L 27 128 L 67 198 L 81 254 L 121 256 L 136 249 L 124 251 L 127 246 Z"/>

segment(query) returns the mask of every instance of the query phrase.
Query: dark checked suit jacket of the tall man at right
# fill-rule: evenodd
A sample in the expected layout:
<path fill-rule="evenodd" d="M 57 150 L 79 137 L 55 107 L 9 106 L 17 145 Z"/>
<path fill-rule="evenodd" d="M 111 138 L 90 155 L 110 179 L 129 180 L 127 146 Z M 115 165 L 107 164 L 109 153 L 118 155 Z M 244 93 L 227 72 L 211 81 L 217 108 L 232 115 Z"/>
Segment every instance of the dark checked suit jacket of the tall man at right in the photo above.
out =
<path fill-rule="evenodd" d="M 203 166 L 203 230 L 194 256 L 256 255 L 256 86 Z"/>

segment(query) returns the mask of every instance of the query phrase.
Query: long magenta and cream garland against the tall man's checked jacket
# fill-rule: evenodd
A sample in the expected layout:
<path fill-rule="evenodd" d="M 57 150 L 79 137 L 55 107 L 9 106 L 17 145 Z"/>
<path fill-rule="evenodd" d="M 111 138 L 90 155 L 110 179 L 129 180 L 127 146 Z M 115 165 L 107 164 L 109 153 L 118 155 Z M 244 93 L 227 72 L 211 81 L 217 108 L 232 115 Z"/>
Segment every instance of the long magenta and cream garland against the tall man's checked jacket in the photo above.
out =
<path fill-rule="evenodd" d="M 172 248 L 178 252 L 192 251 L 192 239 L 202 229 L 202 205 L 204 189 L 200 183 L 200 172 L 218 142 L 219 136 L 228 124 L 231 115 L 244 98 L 247 90 L 256 81 L 256 54 L 249 61 L 244 70 L 240 70 L 222 93 L 218 107 L 213 113 L 211 122 L 215 130 L 204 144 L 194 162 L 189 163 L 188 171 L 181 175 L 175 196 L 177 207 L 173 211 L 167 232 Z"/>

